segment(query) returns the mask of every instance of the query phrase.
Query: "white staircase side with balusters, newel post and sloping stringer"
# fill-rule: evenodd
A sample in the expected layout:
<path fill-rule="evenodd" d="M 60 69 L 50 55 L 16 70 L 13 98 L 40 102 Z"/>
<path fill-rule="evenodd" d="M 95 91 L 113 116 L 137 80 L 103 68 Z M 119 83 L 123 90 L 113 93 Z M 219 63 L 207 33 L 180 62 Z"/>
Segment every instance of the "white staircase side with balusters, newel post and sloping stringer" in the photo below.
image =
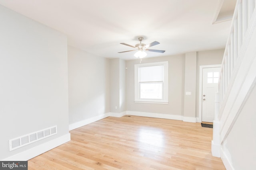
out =
<path fill-rule="evenodd" d="M 235 169 L 227 138 L 256 84 L 255 7 L 256 0 L 236 2 L 216 94 L 212 155 L 222 158 L 227 169 Z"/>

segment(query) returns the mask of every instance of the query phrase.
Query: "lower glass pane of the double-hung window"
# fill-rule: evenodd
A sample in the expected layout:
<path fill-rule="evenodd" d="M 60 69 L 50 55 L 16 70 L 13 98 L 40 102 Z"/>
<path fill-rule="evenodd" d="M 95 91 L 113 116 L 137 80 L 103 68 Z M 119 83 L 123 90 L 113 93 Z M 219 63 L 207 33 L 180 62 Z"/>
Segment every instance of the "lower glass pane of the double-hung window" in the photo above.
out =
<path fill-rule="evenodd" d="M 162 99 L 162 83 L 141 83 L 141 99 Z"/>

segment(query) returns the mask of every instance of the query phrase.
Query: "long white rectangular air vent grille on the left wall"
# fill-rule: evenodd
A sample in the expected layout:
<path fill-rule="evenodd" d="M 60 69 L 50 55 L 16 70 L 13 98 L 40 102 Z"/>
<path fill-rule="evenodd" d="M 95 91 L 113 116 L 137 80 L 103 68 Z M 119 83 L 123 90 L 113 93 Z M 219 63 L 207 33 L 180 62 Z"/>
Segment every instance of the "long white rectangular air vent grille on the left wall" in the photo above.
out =
<path fill-rule="evenodd" d="M 26 146 L 30 143 L 34 143 L 46 137 L 50 137 L 55 134 L 57 134 L 57 126 L 49 127 L 46 129 L 42 129 L 40 131 L 30 133 L 28 135 L 23 135 L 21 137 L 11 139 L 9 141 L 10 151 Z"/>

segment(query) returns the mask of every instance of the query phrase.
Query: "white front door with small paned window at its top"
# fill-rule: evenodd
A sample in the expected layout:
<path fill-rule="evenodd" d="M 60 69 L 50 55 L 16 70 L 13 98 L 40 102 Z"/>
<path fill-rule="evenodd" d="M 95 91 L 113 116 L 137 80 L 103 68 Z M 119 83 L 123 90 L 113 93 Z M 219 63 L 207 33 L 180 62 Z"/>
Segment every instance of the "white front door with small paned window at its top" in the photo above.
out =
<path fill-rule="evenodd" d="M 213 122 L 215 93 L 218 92 L 220 67 L 203 68 L 202 75 L 202 121 Z"/>

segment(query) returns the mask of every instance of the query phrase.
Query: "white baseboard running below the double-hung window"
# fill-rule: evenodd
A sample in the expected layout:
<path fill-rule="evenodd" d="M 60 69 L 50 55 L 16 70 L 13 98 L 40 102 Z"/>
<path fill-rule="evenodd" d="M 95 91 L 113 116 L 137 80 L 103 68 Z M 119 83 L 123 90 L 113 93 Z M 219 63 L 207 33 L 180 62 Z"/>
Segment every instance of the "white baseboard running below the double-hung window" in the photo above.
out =
<path fill-rule="evenodd" d="M 126 111 L 126 115 L 183 120 L 182 115 L 169 115 L 169 114 L 162 114 L 162 113 L 148 113 L 148 112 L 140 112 L 140 111 Z"/>

